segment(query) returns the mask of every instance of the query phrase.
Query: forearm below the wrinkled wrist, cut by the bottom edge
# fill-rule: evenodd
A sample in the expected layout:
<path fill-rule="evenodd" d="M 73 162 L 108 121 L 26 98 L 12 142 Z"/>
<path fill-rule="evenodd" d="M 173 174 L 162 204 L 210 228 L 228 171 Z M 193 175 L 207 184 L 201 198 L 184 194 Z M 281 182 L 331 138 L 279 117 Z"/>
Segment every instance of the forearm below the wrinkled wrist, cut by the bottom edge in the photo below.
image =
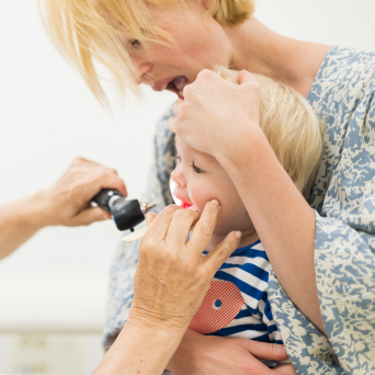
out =
<path fill-rule="evenodd" d="M 183 333 L 158 330 L 129 318 L 93 374 L 162 374 L 182 336 Z"/>

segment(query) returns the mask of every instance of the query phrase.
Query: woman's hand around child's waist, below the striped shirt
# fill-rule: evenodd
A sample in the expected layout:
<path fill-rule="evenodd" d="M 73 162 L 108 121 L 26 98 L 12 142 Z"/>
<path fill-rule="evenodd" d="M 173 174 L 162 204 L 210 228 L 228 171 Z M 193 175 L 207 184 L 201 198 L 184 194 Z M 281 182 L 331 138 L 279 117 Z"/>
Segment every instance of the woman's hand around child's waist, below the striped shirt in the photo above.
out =
<path fill-rule="evenodd" d="M 189 329 L 167 368 L 173 375 L 276 373 L 258 359 L 282 361 L 287 359 L 287 354 L 283 345 L 248 339 L 203 336 Z"/>

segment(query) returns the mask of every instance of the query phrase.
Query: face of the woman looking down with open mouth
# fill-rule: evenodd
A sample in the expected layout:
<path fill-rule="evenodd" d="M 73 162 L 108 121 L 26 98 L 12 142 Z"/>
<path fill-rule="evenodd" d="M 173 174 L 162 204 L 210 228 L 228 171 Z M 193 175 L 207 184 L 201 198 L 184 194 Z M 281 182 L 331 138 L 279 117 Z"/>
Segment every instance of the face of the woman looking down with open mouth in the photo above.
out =
<path fill-rule="evenodd" d="M 150 43 L 145 49 L 137 41 L 127 41 L 138 69 L 138 82 L 180 96 L 183 87 L 193 82 L 202 69 L 228 66 L 231 60 L 230 42 L 223 26 L 207 16 L 202 2 L 189 0 L 185 4 L 149 5 L 155 24 L 168 32 L 175 45 Z"/>

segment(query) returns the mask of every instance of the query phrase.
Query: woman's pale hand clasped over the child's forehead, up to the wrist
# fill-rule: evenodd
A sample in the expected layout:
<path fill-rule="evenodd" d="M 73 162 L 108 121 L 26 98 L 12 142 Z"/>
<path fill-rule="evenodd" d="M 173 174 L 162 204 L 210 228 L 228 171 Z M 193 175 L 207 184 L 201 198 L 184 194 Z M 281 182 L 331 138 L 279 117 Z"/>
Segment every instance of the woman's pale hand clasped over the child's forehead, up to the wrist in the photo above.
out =
<path fill-rule="evenodd" d="M 168 127 L 192 147 L 211 154 L 230 155 L 249 137 L 261 134 L 260 88 L 255 77 L 242 70 L 239 86 L 211 70 L 202 70 L 183 90 L 184 100 L 173 104 L 177 117 Z"/>

